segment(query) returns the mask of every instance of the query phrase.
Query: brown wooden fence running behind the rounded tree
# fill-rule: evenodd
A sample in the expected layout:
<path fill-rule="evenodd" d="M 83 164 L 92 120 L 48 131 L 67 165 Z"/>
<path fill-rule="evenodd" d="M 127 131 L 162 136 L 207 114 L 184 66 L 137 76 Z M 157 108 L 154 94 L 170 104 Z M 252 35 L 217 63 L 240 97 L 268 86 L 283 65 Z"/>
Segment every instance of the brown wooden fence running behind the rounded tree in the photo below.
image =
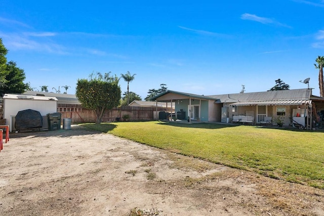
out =
<path fill-rule="evenodd" d="M 131 107 L 121 106 L 109 110 L 103 117 L 102 122 L 109 121 L 149 121 L 154 118 L 154 111 L 169 111 L 161 107 Z M 61 118 L 71 118 L 72 123 L 96 122 L 96 114 L 93 110 L 82 108 L 82 105 L 77 104 L 58 104 L 57 112 L 61 113 Z"/>

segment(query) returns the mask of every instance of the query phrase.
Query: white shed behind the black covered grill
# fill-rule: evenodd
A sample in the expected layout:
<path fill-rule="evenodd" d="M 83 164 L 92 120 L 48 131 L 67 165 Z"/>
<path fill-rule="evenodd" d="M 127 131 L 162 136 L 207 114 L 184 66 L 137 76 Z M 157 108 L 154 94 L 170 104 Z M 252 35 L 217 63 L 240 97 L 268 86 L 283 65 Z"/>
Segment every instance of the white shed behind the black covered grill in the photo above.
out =
<path fill-rule="evenodd" d="M 48 129 L 48 113 L 57 112 L 57 98 L 28 95 L 4 95 L 4 118 L 10 132 L 15 131 L 15 116 L 21 110 L 36 110 L 43 116 L 42 129 Z"/>

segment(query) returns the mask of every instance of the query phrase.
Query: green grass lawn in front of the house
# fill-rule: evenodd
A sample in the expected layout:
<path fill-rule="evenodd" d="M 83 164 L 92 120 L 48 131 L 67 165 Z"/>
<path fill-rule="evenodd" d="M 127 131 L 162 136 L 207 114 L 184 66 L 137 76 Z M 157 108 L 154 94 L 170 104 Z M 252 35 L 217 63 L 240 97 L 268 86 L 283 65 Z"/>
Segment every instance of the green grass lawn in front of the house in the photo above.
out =
<path fill-rule="evenodd" d="M 323 132 L 159 121 L 85 126 L 183 155 L 324 189 Z"/>

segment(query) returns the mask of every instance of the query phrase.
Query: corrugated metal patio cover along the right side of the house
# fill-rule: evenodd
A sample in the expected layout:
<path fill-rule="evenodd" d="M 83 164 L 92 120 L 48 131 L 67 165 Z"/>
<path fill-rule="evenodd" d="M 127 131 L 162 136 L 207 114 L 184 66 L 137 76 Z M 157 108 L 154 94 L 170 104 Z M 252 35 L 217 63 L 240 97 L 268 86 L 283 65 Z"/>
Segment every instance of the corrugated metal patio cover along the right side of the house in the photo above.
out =
<path fill-rule="evenodd" d="M 245 101 L 232 103 L 232 106 L 291 106 L 310 104 L 311 100 L 287 100 L 287 101 Z"/>

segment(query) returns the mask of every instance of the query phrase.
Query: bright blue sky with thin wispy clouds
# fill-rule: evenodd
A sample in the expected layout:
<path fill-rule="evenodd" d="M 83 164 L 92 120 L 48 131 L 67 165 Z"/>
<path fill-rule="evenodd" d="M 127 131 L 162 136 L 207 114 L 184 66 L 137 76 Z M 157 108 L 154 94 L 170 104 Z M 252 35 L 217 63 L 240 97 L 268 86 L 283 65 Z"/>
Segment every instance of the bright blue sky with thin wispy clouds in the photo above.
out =
<path fill-rule="evenodd" d="M 75 93 L 92 72 L 136 74 L 144 99 L 161 83 L 199 95 L 291 89 L 324 55 L 324 1 L 34 1 L 0 0 L 0 37 L 26 82 Z M 121 91 L 127 83 L 120 79 Z"/>

